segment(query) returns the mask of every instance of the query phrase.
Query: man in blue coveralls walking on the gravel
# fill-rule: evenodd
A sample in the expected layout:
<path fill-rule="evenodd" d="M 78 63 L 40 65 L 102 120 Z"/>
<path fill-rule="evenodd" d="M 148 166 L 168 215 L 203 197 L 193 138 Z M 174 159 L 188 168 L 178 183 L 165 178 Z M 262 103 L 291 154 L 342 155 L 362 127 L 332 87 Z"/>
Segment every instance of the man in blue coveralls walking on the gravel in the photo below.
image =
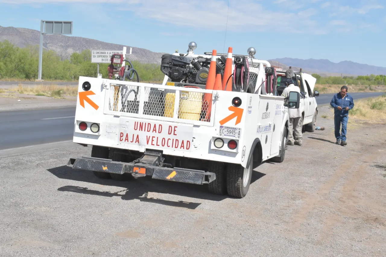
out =
<path fill-rule="evenodd" d="M 349 120 L 349 110 L 354 108 L 354 100 L 347 93 L 347 86 L 342 86 L 340 92 L 336 93 L 331 100 L 330 105 L 334 107 L 335 137 L 336 144 L 347 145 L 346 132 L 347 121 Z M 342 134 L 340 134 L 340 123 L 342 123 Z"/>

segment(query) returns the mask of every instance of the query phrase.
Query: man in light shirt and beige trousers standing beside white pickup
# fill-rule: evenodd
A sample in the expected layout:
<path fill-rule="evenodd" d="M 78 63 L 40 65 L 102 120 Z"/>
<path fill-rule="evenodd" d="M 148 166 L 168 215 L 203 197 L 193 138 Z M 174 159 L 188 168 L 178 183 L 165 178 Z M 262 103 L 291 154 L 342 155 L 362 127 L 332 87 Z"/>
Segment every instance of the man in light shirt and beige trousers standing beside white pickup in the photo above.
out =
<path fill-rule="evenodd" d="M 300 93 L 300 88 L 293 84 L 292 79 L 286 81 L 286 88 L 284 88 L 281 96 L 288 98 L 289 92 L 296 91 Z M 289 115 L 289 134 L 287 145 L 302 145 L 303 135 L 301 134 L 302 128 L 302 118 L 300 113 L 300 108 L 288 108 Z M 295 133 L 294 133 L 295 132 Z M 295 137 L 294 137 L 295 134 Z M 295 138 L 295 140 L 294 140 Z M 295 141 L 295 142 L 294 142 Z"/>

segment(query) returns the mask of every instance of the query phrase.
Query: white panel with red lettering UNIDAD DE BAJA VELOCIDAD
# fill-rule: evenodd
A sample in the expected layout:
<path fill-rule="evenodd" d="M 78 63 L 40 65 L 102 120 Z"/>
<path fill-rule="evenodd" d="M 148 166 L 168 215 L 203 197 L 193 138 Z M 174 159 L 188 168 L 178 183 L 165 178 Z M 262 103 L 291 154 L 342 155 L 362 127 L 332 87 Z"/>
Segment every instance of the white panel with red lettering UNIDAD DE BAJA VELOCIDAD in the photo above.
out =
<path fill-rule="evenodd" d="M 191 152 L 193 126 L 120 119 L 118 143 Z"/>

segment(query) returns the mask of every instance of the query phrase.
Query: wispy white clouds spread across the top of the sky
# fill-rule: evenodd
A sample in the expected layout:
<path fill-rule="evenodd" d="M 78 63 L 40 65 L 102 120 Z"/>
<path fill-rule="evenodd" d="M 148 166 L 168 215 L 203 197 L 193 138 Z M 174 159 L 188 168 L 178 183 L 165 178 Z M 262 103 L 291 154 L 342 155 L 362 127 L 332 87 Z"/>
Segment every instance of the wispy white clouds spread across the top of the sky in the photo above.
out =
<path fill-rule="evenodd" d="M 322 2 L 323 1 L 323 2 Z M 265 2 L 257 0 L 229 0 L 229 18 L 227 30 L 233 32 L 271 32 L 280 27 L 288 33 L 327 34 L 330 31 L 355 27 L 356 16 L 372 10 L 384 8 L 378 0 L 363 0 L 363 5 L 354 8 L 352 4 L 342 5 L 343 0 L 325 2 L 324 0 L 275 0 L 274 8 L 267 8 Z M 120 12 L 129 11 L 141 19 L 155 20 L 165 27 L 173 24 L 179 27 L 197 30 L 224 31 L 227 23 L 228 0 L 0 0 L 0 3 L 44 4 L 69 3 L 100 8 L 103 19 L 109 19 L 108 10 L 98 3 L 116 4 Z M 93 5 L 90 5 L 93 3 Z M 347 2 L 346 2 L 347 3 Z M 321 8 L 320 8 L 321 7 Z M 318 8 L 320 8 L 318 10 Z M 318 12 L 327 11 L 326 17 Z M 125 14 L 122 14 L 124 17 Z M 338 19 L 331 17 L 337 16 Z M 320 19 L 323 18 L 323 19 Z M 354 19 L 352 19 L 354 18 Z M 87 19 L 94 20 L 92 15 Z M 101 20 L 100 17 L 98 17 Z M 331 20 L 332 19 L 332 20 Z M 349 22 L 350 21 L 350 22 Z M 105 23 L 105 22 L 104 22 Z M 359 29 L 366 29 L 359 27 Z M 162 33 L 175 34 L 173 30 Z"/>

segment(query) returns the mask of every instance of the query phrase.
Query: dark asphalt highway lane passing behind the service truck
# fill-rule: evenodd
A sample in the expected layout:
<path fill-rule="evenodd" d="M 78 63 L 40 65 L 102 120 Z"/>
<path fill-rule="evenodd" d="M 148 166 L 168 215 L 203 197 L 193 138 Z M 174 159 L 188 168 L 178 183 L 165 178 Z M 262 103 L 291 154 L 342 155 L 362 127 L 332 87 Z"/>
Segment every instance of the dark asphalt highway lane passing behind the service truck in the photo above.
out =
<path fill-rule="evenodd" d="M 318 105 L 328 104 L 333 94 L 318 96 Z M 359 98 L 383 95 L 351 93 Z M 36 144 L 72 140 L 75 108 L 0 112 L 0 150 Z M 4 136 L 6 135 L 6 136 Z"/>

